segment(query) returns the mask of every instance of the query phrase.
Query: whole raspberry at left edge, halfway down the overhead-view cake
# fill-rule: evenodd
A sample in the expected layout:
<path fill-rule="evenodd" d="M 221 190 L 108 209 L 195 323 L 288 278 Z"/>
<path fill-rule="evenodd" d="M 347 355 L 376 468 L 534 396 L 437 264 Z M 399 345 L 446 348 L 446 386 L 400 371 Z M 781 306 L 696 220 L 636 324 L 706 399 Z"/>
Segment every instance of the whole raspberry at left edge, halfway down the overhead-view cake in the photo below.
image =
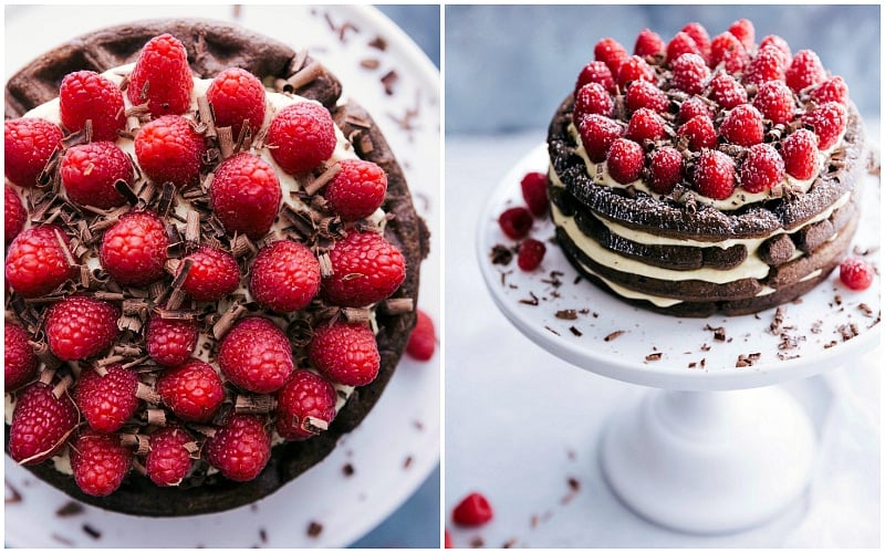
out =
<path fill-rule="evenodd" d="M 67 236 L 54 225 L 22 230 L 7 250 L 7 282 L 24 298 L 49 294 L 75 274 L 65 248 Z"/>

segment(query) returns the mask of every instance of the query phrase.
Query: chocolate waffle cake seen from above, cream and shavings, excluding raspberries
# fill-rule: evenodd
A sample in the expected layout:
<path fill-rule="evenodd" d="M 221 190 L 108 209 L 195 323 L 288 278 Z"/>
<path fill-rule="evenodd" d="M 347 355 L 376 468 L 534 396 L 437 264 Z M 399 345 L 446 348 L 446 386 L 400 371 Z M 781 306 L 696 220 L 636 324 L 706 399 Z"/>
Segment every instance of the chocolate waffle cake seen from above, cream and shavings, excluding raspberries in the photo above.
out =
<path fill-rule="evenodd" d="M 207 126 L 211 126 L 207 125 L 206 119 L 211 118 L 212 114 L 211 111 L 200 113 L 198 96 L 205 94 L 205 87 L 196 87 L 191 105 L 184 115 L 194 121 L 195 131 L 206 136 L 207 140 L 199 185 L 176 190 L 175 187 L 164 186 L 164 182 L 153 182 L 140 173 L 137 156 L 129 148 L 128 155 L 136 164 L 136 178 L 128 189 L 119 187 L 117 182 L 126 204 L 112 209 L 84 209 L 64 197 L 60 190 L 58 174 L 61 156 L 53 155 L 38 186 L 15 186 L 10 182 L 10 174 L 7 171 L 7 188 L 13 188 L 28 209 L 25 229 L 51 223 L 62 230 L 64 238 L 71 240 L 67 244 L 62 244 L 66 246 L 72 268 L 71 278 L 62 285 L 45 294 L 30 294 L 27 299 L 14 285 L 11 291 L 7 291 L 7 326 L 23 327 L 39 358 L 39 371 L 31 380 L 46 382 L 55 390 L 61 390 L 56 397 L 64 399 L 65 395 L 76 392 L 84 371 L 91 371 L 93 366 L 106 368 L 113 362 L 136 372 L 139 388 L 152 388 L 157 375 L 167 371 L 149 358 L 146 351 L 145 328 L 155 316 L 196 320 L 199 338 L 192 355 L 206 361 L 219 373 L 216 358 L 219 341 L 223 340 L 237 321 L 247 316 L 266 317 L 285 333 L 295 368 L 319 373 L 311 367 L 309 343 L 316 328 L 339 322 L 371 327 L 379 357 L 377 376 L 369 384 L 350 386 L 330 379 L 337 396 L 334 418 L 330 422 L 308 417 L 306 426 L 302 425 L 301 429 L 311 435 L 309 439 L 287 440 L 277 434 L 274 419 L 278 414 L 274 406 L 278 398 L 274 393 L 252 393 L 225 378 L 223 401 L 210 420 L 199 425 L 177 421 L 176 414 L 164 401 L 158 400 L 156 393 L 150 394 L 148 390 L 146 396 L 139 394 L 139 407 L 119 430 L 121 441 L 132 447 L 132 470 L 127 470 L 119 487 L 107 495 L 84 493 L 77 486 L 69 465 L 70 445 L 62 447 L 48 461 L 25 465 L 41 480 L 81 501 L 131 514 L 179 517 L 232 509 L 277 491 L 285 482 L 320 462 L 335 448 L 343 435 L 360 425 L 389 382 L 415 324 L 419 268 L 428 252 L 429 236 L 424 221 L 415 211 L 403 170 L 381 129 L 364 108 L 353 100 L 342 98 L 342 83 L 319 61 L 308 55 L 306 51 L 294 51 L 287 44 L 236 25 L 209 20 L 150 20 L 112 27 L 71 40 L 38 56 L 9 80 L 6 86 L 7 124 L 34 114 L 45 118 L 58 117 L 52 115 L 53 109 L 58 112 L 59 108 L 54 98 L 59 96 L 63 79 L 72 72 L 93 71 L 115 80 L 125 90 L 132 72 L 129 64 L 136 62 L 148 41 L 164 33 L 170 34 L 184 45 L 195 83 L 199 83 L 199 80 L 211 80 L 229 67 L 240 67 L 256 75 L 264 85 L 268 98 L 275 94 L 273 102 L 268 101 L 268 119 L 261 128 L 253 129 L 251 135 L 241 132 L 239 136 L 232 136 L 232 143 L 228 140 L 228 144 L 221 144 L 221 139 L 206 135 Z M 225 232 L 219 227 L 218 219 L 211 215 L 211 204 L 205 194 L 210 185 L 207 178 L 210 178 L 219 161 L 237 152 L 251 152 L 256 156 L 270 159 L 269 147 L 266 143 L 262 144 L 262 140 L 267 140 L 266 127 L 272 112 L 280 109 L 281 105 L 294 102 L 294 97 L 317 103 L 331 115 L 336 126 L 337 140 L 333 157 L 321 163 L 311 173 L 295 178 L 282 175 L 279 166 L 271 164 L 280 173 L 278 176 L 283 188 L 283 200 L 270 232 L 254 238 L 243 236 L 242 232 Z M 142 111 L 127 102 L 128 123 L 121 132 L 117 144 L 137 136 L 139 128 L 152 121 L 153 117 L 145 113 L 144 106 L 140 107 Z M 218 131 L 222 134 L 221 129 Z M 84 136 L 84 132 L 69 133 L 65 129 L 62 149 L 88 139 L 88 132 Z M 9 142 L 9 132 L 7 140 Z M 343 221 L 331 212 L 329 201 L 323 198 L 322 192 L 317 192 L 336 175 L 330 170 L 335 168 L 333 161 L 340 155 L 372 161 L 386 174 L 383 204 L 371 217 Z M 8 168 L 9 165 L 8 161 Z M 7 198 L 9 199 L 9 191 Z M 136 209 L 147 209 L 163 216 L 170 237 L 169 260 L 166 274 L 158 282 L 144 286 L 119 285 L 95 264 L 100 258 L 97 250 L 102 243 L 101 234 L 110 226 L 103 221 L 113 222 L 119 219 L 121 213 Z M 189 217 L 192 215 L 190 211 L 198 217 Z M 335 244 L 353 232 L 381 234 L 387 244 L 402 252 L 405 260 L 402 283 L 386 299 L 369 305 L 341 305 L 330 300 L 322 290 L 303 309 L 280 313 L 268 309 L 250 293 L 249 271 L 252 260 L 262 248 L 281 239 L 301 242 L 319 258 L 325 279 L 332 273 L 329 267 L 323 265 L 323 258 L 325 257 L 327 263 L 327 255 Z M 63 241 L 62 238 L 59 240 Z M 185 278 L 180 271 L 176 272 L 176 268 L 180 269 L 181 265 L 175 263 L 176 258 L 180 261 L 185 253 L 206 243 L 231 252 L 240 268 L 239 288 L 227 298 L 215 302 L 198 302 L 187 294 L 181 295 L 179 292 Z M 7 242 L 7 255 L 13 247 L 14 242 L 12 246 Z M 53 348 L 48 346 L 48 311 L 53 304 L 71 296 L 101 299 L 119 310 L 121 334 L 112 348 L 85 359 L 66 362 L 56 358 Z M 9 337 L 7 340 L 9 344 Z M 7 356 L 7 363 L 9 358 Z M 14 411 L 10 416 L 10 407 L 18 407 L 17 396 L 21 396 L 25 388 L 7 389 L 8 453 L 10 418 L 14 421 Z M 205 442 L 238 413 L 257 414 L 261 417 L 268 438 L 273 440 L 270 458 L 263 470 L 248 481 L 226 478 L 200 455 Z M 190 457 L 194 459 L 191 469 L 180 483 L 170 487 L 153 483 L 145 476 L 144 468 L 144 456 L 150 450 L 150 436 L 164 424 L 164 419 L 166 425 L 175 422 L 183 426 L 194 437 L 189 445 Z M 86 427 L 81 414 L 77 428 L 64 439 L 73 440 Z"/>

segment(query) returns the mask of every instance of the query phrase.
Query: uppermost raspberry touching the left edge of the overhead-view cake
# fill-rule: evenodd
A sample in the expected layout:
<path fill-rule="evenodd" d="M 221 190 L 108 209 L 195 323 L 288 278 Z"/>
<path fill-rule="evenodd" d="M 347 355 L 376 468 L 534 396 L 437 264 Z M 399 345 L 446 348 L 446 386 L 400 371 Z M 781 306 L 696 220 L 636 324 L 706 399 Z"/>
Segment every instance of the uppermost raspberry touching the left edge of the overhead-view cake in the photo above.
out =
<path fill-rule="evenodd" d="M 24 188 L 37 186 L 50 156 L 61 148 L 62 129 L 39 117 L 3 123 L 3 163 L 7 178 Z"/>

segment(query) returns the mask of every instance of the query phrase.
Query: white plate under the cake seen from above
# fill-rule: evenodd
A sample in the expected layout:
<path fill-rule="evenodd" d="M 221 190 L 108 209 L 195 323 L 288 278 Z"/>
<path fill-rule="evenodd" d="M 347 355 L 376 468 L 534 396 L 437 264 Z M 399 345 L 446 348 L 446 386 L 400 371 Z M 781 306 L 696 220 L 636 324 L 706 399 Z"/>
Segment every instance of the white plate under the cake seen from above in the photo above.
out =
<path fill-rule="evenodd" d="M 15 7 L 6 8 L 6 76 L 65 40 L 126 21 L 204 17 L 238 22 L 294 48 L 308 46 L 382 127 L 403 166 L 418 212 L 439 237 L 439 74 L 425 54 L 367 7 Z M 351 23 L 341 39 L 341 25 Z M 334 27 L 334 28 L 333 28 Z M 356 30 L 354 30 L 355 28 Z M 369 46 L 376 36 L 386 49 Z M 361 66 L 372 58 L 376 70 Z M 381 77 L 395 70 L 394 93 Z M 409 125 L 398 123 L 417 111 Z M 398 119 L 398 121 L 397 121 Z M 438 242 L 421 267 L 419 306 L 439 320 Z M 342 547 L 391 514 L 439 460 L 440 359 L 406 356 L 360 427 L 320 465 L 253 505 L 178 519 L 144 519 L 84 507 L 59 517 L 70 498 L 6 458 L 6 543 L 29 547 Z M 355 473 L 345 477 L 343 467 Z M 10 488 L 11 486 L 11 488 Z M 13 491 L 20 501 L 9 502 Z M 322 524 L 316 538 L 311 522 Z M 97 533 L 97 538 L 95 534 Z"/>

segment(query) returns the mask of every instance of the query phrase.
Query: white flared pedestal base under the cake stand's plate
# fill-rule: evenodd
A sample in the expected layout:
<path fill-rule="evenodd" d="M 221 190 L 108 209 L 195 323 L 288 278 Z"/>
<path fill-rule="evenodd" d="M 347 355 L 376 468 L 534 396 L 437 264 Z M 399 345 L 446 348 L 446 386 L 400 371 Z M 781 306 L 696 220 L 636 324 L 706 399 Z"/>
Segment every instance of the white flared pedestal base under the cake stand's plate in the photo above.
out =
<path fill-rule="evenodd" d="M 779 387 L 655 390 L 615 414 L 601 460 L 634 512 L 711 534 L 785 510 L 811 479 L 815 446 L 804 409 Z"/>

